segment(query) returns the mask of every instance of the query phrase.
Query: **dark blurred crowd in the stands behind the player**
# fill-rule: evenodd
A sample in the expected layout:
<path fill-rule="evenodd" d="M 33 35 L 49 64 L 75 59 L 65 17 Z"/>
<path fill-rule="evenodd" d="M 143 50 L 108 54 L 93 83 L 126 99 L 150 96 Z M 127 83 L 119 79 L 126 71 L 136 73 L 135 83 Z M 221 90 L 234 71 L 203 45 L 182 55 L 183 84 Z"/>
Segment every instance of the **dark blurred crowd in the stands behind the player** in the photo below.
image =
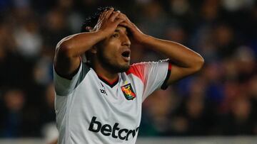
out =
<path fill-rule="evenodd" d="M 143 103 L 141 136 L 257 135 L 257 1 L 0 0 L 0 138 L 44 137 L 55 122 L 53 57 L 99 6 L 205 59 Z M 132 61 L 166 57 L 132 45 Z M 172 70 L 171 70 L 172 74 Z"/>

